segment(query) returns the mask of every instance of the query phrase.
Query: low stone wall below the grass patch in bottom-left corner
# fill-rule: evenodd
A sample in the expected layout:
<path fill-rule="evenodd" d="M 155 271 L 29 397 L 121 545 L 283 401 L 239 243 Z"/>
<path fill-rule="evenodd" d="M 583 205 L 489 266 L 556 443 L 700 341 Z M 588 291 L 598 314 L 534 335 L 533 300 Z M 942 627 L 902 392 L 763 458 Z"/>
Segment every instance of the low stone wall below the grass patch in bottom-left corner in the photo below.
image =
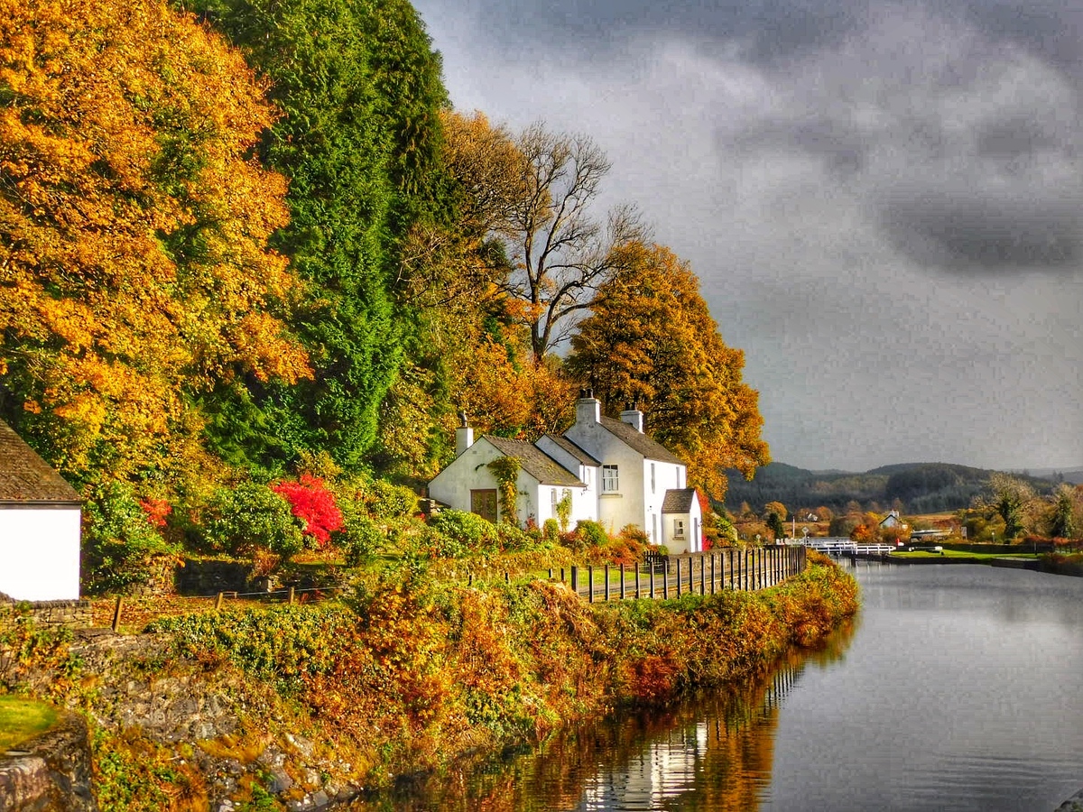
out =
<path fill-rule="evenodd" d="M 22 747 L 0 754 L 0 810 L 97 812 L 82 717 L 63 712 L 56 724 Z"/>

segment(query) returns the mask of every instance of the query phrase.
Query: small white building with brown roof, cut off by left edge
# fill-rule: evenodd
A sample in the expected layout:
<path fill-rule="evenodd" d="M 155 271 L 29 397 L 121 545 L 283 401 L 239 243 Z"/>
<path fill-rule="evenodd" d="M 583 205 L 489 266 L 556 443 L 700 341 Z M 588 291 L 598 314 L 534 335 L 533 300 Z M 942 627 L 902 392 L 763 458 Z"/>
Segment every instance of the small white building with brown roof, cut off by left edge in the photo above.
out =
<path fill-rule="evenodd" d="M 78 600 L 81 518 L 75 488 L 0 420 L 0 592 Z"/>

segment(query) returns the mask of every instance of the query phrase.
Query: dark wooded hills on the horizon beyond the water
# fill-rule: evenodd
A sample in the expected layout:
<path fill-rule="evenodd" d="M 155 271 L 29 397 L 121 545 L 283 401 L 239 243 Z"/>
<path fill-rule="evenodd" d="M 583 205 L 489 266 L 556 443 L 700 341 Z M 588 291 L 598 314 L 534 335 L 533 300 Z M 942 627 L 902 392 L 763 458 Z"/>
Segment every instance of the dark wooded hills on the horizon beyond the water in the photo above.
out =
<path fill-rule="evenodd" d="M 733 511 L 748 502 L 758 512 L 767 502 L 780 501 L 790 509 L 823 506 L 837 513 L 849 502 L 859 502 L 862 510 L 888 510 L 899 500 L 908 513 L 934 513 L 968 507 L 992 473 L 947 462 L 882 466 L 864 473 L 808 471 L 772 462 L 759 469 L 752 482 L 736 471 L 728 472 L 726 507 Z M 1065 481 L 1069 481 L 1068 473 L 1064 473 Z M 1049 493 L 1054 487 L 1048 479 L 1016 475 L 1039 493 Z"/>

